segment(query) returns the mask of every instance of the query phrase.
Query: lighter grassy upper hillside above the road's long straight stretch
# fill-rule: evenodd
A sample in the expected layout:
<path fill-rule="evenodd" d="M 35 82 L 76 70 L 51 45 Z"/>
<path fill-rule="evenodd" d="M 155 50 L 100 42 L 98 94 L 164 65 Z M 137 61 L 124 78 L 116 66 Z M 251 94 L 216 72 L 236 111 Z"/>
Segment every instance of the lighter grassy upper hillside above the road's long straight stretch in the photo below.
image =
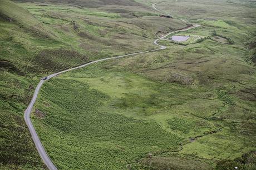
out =
<path fill-rule="evenodd" d="M 9 9 L 14 3 L 3 4 L 1 13 L 14 18 L 14 22 L 2 17 L 2 59 L 27 73 L 56 72 L 88 59 L 155 48 L 151 39 L 157 31 L 185 26 L 179 21 L 165 23 L 167 20 L 154 16 L 123 18 L 119 13 L 64 5 L 19 4 L 28 11 L 15 5 L 18 12 L 11 13 Z M 24 17 L 13 17 L 22 16 L 19 13 L 24 13 Z M 163 27 L 158 28 L 155 21 L 163 23 Z M 8 50 L 6 46 L 12 47 Z M 17 52 L 18 49 L 22 51 Z"/>

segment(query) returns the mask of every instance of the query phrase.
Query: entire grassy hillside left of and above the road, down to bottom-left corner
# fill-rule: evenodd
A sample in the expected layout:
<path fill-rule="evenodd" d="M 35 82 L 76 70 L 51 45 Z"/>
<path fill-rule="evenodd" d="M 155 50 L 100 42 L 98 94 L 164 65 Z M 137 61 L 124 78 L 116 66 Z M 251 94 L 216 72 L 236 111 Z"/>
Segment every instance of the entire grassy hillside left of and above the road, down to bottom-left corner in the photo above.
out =
<path fill-rule="evenodd" d="M 23 121 L 40 77 L 88 60 L 155 48 L 151 42 L 158 29 L 168 32 L 185 26 L 144 13 L 143 7 L 136 9 L 141 16 L 129 11 L 122 16 L 105 9 L 0 1 L 2 169 L 44 168 Z M 163 23 L 162 27 L 152 24 L 149 28 L 155 21 Z M 137 43 L 133 44 L 134 39 Z"/>

